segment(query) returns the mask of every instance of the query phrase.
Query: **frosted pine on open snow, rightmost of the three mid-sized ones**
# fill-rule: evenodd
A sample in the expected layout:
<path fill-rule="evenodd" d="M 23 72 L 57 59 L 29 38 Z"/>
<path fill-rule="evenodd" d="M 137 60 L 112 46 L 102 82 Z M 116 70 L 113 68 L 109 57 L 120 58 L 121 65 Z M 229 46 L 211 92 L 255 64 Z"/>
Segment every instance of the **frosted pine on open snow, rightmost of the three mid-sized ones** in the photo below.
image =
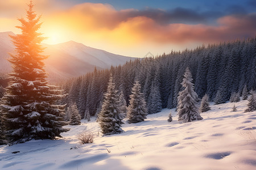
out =
<path fill-rule="evenodd" d="M 197 103 L 199 99 L 194 91 L 194 84 L 192 83 L 192 80 L 191 72 L 187 67 L 183 82 L 181 83 L 185 89 L 179 92 L 179 97 L 177 99 L 177 114 L 179 115 L 179 121 L 191 122 L 203 119 L 199 113 Z"/>

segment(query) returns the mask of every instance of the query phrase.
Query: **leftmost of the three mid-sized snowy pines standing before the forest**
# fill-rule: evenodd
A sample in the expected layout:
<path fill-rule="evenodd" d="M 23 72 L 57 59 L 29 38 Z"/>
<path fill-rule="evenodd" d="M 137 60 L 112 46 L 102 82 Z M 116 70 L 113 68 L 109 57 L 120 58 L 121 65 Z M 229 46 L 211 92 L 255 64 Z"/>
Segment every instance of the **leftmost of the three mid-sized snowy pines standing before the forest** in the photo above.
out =
<path fill-rule="evenodd" d="M 115 83 L 113 77 L 110 75 L 108 90 L 104 94 L 104 101 L 102 103 L 102 109 L 99 114 L 99 121 L 102 133 L 104 135 L 111 135 L 115 133 L 122 133 L 121 129 L 122 115 L 119 112 L 119 101 L 117 90 L 115 90 Z"/>

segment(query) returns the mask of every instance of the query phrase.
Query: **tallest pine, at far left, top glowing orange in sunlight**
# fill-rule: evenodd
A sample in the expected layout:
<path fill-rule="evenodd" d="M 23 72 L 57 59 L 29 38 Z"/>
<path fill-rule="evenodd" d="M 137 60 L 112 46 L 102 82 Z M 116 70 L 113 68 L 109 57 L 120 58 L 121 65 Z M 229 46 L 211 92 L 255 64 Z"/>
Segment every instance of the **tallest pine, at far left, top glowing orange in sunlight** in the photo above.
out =
<path fill-rule="evenodd" d="M 10 54 L 13 65 L 6 94 L 1 101 L 6 124 L 6 136 L 10 143 L 22 143 L 31 139 L 55 139 L 63 129 L 64 105 L 56 105 L 63 95 L 56 86 L 47 83 L 44 70 L 44 37 L 38 33 L 42 23 L 36 18 L 32 1 L 28 4 L 27 20 L 18 19 L 22 33 L 10 36 L 15 54 Z"/>

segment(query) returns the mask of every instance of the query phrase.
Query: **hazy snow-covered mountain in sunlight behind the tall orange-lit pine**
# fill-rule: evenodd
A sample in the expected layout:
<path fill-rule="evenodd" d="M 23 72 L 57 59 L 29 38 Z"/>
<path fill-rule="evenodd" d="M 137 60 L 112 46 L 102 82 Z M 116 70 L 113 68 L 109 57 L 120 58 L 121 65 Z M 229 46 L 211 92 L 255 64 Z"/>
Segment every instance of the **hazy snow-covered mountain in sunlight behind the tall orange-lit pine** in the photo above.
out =
<path fill-rule="evenodd" d="M 13 32 L 0 32 L 0 73 L 7 74 L 11 65 L 7 61 L 9 52 L 14 52 L 14 45 L 9 35 Z M 126 57 L 104 50 L 91 48 L 84 44 L 68 41 L 56 45 L 43 44 L 46 47 L 44 54 L 49 57 L 44 61 L 49 80 L 67 79 L 97 69 L 107 69 L 110 66 L 122 65 L 134 57 Z"/>

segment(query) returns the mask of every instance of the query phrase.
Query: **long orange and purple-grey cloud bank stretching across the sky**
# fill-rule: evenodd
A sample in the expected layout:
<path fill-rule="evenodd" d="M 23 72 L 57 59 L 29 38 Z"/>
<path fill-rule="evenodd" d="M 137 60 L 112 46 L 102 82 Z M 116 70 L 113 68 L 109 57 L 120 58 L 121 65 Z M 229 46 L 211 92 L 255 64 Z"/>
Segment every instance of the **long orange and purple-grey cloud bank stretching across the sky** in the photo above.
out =
<path fill-rule="evenodd" d="M 222 16 L 216 20 L 217 25 L 207 23 L 207 17 L 217 15 L 219 14 L 208 13 L 207 16 L 202 16 L 184 8 L 176 8 L 172 11 L 160 9 L 117 11 L 110 5 L 83 3 L 51 18 L 55 23 L 60 20 L 63 28 L 71 27 L 81 34 L 98 34 L 98 38 L 104 37 L 112 39 L 111 41 L 118 41 L 129 35 L 127 39 L 158 43 L 216 42 L 256 35 L 256 14 Z M 99 36 L 101 34 L 102 36 Z"/>

